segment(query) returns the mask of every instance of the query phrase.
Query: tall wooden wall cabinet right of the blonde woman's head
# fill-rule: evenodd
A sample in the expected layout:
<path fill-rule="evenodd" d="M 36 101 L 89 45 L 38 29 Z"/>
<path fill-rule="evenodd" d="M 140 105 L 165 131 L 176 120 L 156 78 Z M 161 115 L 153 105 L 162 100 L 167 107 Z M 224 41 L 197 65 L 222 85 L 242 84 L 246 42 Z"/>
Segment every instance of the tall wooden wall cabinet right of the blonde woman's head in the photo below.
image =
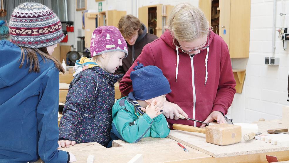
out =
<path fill-rule="evenodd" d="M 210 25 L 219 21 L 215 29 L 228 44 L 231 58 L 248 58 L 251 0 L 199 0 L 199 8 Z"/>

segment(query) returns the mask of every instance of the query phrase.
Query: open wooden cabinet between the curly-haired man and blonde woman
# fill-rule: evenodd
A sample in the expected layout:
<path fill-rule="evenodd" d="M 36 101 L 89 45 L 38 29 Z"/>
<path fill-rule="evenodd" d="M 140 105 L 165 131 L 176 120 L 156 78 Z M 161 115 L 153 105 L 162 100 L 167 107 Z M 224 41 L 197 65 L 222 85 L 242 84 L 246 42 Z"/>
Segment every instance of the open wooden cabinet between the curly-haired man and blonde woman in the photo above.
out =
<path fill-rule="evenodd" d="M 153 34 L 160 37 L 163 34 L 164 26 L 167 25 L 167 19 L 174 6 L 172 5 L 151 5 L 143 6 L 138 9 L 140 21 L 147 27 L 147 33 L 150 30 Z"/>

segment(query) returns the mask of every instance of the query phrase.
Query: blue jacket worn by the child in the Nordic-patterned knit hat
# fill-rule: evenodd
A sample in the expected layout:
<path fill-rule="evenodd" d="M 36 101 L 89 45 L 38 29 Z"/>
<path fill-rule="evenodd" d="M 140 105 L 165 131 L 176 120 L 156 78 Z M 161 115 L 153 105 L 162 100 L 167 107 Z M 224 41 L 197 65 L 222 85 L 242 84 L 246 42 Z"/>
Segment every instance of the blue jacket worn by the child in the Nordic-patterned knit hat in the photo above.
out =
<path fill-rule="evenodd" d="M 21 50 L 0 41 L 0 162 L 67 162 L 58 148 L 59 71 L 38 54 L 40 72 L 19 69 Z"/>

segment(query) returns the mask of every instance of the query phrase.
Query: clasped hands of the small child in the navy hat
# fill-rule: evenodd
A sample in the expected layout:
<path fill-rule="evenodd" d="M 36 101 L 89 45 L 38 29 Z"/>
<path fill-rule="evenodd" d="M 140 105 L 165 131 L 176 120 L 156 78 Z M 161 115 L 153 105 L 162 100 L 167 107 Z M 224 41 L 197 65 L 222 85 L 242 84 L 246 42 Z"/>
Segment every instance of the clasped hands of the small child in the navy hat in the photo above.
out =
<path fill-rule="evenodd" d="M 146 102 L 149 104 L 149 100 L 146 100 Z M 145 113 L 153 119 L 154 117 L 157 117 L 159 114 L 162 114 L 160 112 L 164 108 L 164 103 L 162 101 L 157 102 L 156 99 L 154 99 L 150 105 L 147 105 L 145 108 Z"/>

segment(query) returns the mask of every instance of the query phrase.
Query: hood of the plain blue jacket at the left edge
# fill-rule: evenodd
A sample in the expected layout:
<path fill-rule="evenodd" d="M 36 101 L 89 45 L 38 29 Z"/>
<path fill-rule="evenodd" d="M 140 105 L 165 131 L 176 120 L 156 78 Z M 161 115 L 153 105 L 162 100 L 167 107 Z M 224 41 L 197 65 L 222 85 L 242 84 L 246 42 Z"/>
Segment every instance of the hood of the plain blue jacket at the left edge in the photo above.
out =
<path fill-rule="evenodd" d="M 22 68 L 19 68 L 21 64 L 21 49 L 19 46 L 11 43 L 7 40 L 0 40 L 0 52 L 1 56 L 9 55 L 10 57 L 1 57 L 0 62 L 0 88 L 11 86 L 16 82 L 23 79 L 29 72 L 29 66 L 25 59 Z M 22 58 L 21 58 L 22 59 Z M 42 61 L 41 57 L 38 57 L 39 62 Z M 27 66 L 26 66 L 27 65 Z M 17 74 L 17 75 L 13 75 Z"/>

